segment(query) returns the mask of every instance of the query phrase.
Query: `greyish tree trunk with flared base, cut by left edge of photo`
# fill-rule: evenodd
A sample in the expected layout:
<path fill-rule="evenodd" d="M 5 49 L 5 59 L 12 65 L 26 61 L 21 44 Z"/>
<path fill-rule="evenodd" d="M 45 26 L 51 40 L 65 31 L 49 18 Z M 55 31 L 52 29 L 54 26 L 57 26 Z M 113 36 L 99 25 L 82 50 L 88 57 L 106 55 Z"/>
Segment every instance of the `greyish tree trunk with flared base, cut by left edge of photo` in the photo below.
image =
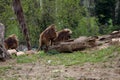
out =
<path fill-rule="evenodd" d="M 10 58 L 10 55 L 4 46 L 4 31 L 5 27 L 0 23 L 0 61 L 5 61 L 6 59 Z"/>

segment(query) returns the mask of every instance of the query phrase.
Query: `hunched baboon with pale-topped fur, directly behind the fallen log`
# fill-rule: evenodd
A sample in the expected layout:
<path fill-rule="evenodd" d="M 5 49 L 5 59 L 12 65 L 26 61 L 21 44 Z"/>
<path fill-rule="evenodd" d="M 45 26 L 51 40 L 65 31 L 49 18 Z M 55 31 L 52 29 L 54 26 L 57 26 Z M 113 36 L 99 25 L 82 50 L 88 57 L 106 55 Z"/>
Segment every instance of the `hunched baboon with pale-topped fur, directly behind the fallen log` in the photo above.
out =
<path fill-rule="evenodd" d="M 67 41 L 71 38 L 72 31 L 68 28 L 63 29 L 57 32 L 57 37 L 54 40 L 54 44 L 58 44 L 59 42 Z"/>

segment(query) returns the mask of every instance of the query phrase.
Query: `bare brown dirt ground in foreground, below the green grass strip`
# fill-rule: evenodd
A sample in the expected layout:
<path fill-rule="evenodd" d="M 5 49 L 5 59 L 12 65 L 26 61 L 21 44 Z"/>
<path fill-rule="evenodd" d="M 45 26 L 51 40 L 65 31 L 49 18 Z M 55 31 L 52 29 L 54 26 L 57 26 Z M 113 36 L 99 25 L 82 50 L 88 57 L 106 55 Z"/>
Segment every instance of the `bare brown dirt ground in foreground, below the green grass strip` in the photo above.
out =
<path fill-rule="evenodd" d="M 18 63 L 16 58 L 10 59 L 0 62 L 0 80 L 120 80 L 120 53 L 115 51 L 105 58 L 108 60 L 69 66 L 51 65 L 51 60 Z"/>

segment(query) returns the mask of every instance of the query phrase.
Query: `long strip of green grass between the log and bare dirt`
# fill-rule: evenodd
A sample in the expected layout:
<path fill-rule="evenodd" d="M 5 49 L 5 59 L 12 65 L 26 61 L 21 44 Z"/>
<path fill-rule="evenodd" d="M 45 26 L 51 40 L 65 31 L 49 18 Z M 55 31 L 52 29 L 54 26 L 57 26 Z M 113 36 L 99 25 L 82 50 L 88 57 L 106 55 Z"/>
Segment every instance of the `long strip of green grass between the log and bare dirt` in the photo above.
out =
<path fill-rule="evenodd" d="M 95 50 L 89 53 L 85 52 L 73 52 L 73 53 L 57 53 L 54 55 L 50 55 L 49 53 L 44 53 L 44 52 L 39 52 L 38 54 L 35 55 L 30 55 L 30 56 L 18 56 L 16 57 L 17 63 L 30 63 L 30 62 L 36 62 L 40 61 L 41 63 L 44 64 L 49 64 L 49 65 L 65 65 L 65 66 L 70 66 L 70 65 L 76 65 L 76 64 L 83 64 L 85 62 L 104 62 L 107 61 L 108 58 L 106 56 L 111 55 L 113 52 L 120 52 L 119 47 L 109 47 L 107 49 L 102 49 L 102 50 Z"/>

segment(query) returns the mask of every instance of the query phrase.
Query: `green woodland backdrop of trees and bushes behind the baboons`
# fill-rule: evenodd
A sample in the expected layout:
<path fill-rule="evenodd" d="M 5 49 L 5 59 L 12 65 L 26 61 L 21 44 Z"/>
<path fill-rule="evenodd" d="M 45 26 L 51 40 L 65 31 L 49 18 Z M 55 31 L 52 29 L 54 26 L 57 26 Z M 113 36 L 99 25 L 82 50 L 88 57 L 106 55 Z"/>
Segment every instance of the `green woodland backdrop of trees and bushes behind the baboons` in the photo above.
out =
<path fill-rule="evenodd" d="M 40 33 L 50 24 L 57 30 L 70 28 L 72 37 L 108 34 L 120 30 L 119 0 L 21 0 L 32 47 L 38 46 Z M 12 0 L 0 0 L 0 22 L 5 37 L 16 34 L 25 39 L 14 14 Z"/>

